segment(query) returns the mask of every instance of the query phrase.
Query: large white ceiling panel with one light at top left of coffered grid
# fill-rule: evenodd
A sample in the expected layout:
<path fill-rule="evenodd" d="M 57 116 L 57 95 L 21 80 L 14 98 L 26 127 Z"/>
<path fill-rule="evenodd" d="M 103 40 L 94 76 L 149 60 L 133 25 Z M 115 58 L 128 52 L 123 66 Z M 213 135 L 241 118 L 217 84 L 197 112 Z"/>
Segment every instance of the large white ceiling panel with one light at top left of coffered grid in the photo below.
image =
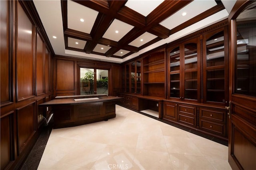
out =
<path fill-rule="evenodd" d="M 68 0 L 68 28 L 90 34 L 97 15 L 97 11 Z"/>

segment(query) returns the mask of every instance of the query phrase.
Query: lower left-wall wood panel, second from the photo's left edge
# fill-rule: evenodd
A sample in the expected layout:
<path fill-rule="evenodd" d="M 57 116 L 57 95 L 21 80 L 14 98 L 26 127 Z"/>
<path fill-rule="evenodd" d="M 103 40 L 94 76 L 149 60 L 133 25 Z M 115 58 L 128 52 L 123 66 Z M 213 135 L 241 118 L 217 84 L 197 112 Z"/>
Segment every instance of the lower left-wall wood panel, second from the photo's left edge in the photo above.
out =
<path fill-rule="evenodd" d="M 18 152 L 26 144 L 28 139 L 35 132 L 35 103 L 31 103 L 24 107 L 18 108 L 17 123 L 18 123 Z"/>

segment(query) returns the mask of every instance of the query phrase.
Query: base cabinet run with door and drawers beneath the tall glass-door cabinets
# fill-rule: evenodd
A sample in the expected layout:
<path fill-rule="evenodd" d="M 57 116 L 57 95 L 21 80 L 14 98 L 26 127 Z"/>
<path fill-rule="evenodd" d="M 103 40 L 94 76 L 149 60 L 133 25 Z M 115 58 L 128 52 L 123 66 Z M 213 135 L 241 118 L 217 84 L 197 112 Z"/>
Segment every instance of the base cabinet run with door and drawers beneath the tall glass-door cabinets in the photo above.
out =
<path fill-rule="evenodd" d="M 227 110 L 214 106 L 164 101 L 163 119 L 228 140 Z"/>

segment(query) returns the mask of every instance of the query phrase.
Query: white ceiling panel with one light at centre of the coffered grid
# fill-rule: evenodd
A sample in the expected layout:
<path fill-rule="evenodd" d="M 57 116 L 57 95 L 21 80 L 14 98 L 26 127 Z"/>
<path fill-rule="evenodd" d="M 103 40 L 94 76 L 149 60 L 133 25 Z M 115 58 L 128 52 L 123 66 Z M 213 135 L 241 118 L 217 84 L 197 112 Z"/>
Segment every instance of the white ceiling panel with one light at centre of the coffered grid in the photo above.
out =
<path fill-rule="evenodd" d="M 113 41 L 118 42 L 123 38 L 134 26 L 126 24 L 120 20 L 115 19 L 112 24 L 109 26 L 108 30 L 105 32 L 103 38 L 107 38 Z M 116 33 L 118 31 L 118 33 Z"/>

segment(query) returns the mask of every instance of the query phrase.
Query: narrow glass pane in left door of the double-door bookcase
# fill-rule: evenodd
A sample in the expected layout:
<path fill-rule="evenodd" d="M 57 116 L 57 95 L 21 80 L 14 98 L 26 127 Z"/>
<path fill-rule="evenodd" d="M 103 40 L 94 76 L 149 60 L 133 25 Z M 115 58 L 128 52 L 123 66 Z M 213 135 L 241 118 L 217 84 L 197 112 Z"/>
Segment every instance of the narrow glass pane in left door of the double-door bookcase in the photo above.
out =
<path fill-rule="evenodd" d="M 180 98 L 180 46 L 170 51 L 170 97 Z"/>

